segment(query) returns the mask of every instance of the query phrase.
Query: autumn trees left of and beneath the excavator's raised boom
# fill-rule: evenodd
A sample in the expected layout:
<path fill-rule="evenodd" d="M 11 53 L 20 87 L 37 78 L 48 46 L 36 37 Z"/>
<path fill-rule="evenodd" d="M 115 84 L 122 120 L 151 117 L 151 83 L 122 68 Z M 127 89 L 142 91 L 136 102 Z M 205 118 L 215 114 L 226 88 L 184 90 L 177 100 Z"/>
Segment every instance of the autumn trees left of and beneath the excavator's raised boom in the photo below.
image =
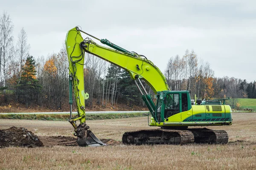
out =
<path fill-rule="evenodd" d="M 15 41 L 14 25 L 9 14 L 0 16 L 0 105 L 10 102 L 52 109 L 68 106 L 69 70 L 65 47 L 47 57 L 29 55 L 30 45 L 24 28 Z M 128 107 L 143 105 L 129 75 L 102 59 L 88 55 L 84 69 L 85 92 L 90 94 L 87 106 L 93 102 L 115 105 L 122 101 Z"/>

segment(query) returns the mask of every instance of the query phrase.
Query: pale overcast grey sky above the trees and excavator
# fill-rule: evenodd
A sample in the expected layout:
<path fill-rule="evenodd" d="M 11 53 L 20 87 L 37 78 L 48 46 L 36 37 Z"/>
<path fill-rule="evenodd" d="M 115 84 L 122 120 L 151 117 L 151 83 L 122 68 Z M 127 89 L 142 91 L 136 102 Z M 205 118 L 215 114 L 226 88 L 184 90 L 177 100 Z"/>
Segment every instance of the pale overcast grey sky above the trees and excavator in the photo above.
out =
<path fill-rule="evenodd" d="M 24 28 L 35 58 L 58 53 L 67 31 L 81 26 L 145 55 L 162 72 L 189 49 L 215 77 L 256 80 L 255 0 L 0 0 L 3 11 L 15 40 Z"/>

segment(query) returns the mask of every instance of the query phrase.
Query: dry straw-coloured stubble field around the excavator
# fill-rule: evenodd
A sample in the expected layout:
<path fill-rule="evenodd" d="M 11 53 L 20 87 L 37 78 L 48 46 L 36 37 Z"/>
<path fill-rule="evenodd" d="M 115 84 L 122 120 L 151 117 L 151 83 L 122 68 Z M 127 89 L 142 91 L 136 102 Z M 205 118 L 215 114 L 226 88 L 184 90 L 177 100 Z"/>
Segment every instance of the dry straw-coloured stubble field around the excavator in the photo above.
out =
<path fill-rule="evenodd" d="M 256 113 L 233 113 L 228 144 L 123 145 L 125 131 L 148 129 L 146 117 L 87 121 L 99 139 L 114 139 L 105 147 L 51 146 L 0 149 L 0 169 L 256 169 Z M 73 136 L 63 121 L 0 119 L 0 129 L 26 127 L 38 136 Z M 209 128 L 209 127 L 208 127 Z"/>

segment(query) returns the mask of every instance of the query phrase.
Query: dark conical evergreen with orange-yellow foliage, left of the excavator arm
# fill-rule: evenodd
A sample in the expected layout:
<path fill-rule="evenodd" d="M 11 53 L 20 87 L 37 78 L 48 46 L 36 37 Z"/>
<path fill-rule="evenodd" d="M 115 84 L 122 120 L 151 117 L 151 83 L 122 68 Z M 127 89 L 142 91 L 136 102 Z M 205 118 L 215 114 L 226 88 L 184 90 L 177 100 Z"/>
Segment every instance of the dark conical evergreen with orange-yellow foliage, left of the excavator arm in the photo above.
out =
<path fill-rule="evenodd" d="M 42 86 L 38 84 L 35 75 L 35 59 L 33 56 L 28 56 L 22 67 L 20 82 L 17 84 L 16 89 L 18 101 L 26 103 L 26 108 L 28 108 L 28 105 L 32 100 L 37 99 L 42 88 Z"/>

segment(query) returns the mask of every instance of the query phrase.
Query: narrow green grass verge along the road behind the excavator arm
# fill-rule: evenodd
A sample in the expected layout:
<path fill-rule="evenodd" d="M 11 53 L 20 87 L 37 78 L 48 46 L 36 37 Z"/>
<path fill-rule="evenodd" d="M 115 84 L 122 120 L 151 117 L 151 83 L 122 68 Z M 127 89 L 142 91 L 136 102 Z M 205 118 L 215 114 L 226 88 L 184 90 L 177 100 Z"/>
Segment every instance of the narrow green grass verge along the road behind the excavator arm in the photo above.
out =
<path fill-rule="evenodd" d="M 75 114 L 73 114 L 75 116 Z M 148 116 L 148 113 L 105 113 L 105 114 L 86 114 L 87 120 L 99 119 L 121 119 L 129 117 Z M 68 121 L 69 114 L 0 114 L 0 119 L 23 119 L 23 120 L 51 120 Z"/>

